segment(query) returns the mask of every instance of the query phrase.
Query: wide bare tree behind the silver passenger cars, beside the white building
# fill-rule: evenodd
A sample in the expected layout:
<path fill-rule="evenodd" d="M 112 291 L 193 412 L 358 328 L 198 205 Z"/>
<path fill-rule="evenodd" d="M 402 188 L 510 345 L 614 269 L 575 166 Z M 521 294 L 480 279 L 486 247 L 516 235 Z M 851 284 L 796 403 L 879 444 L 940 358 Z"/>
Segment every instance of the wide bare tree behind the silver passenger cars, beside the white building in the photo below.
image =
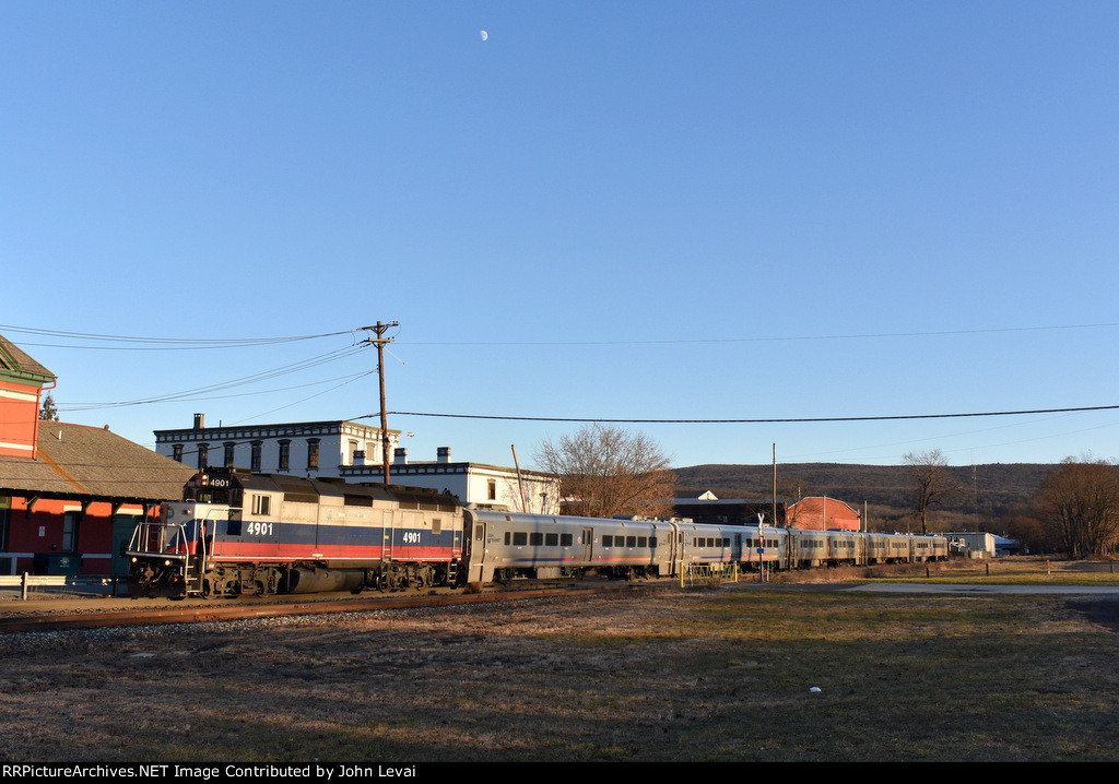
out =
<path fill-rule="evenodd" d="M 598 423 L 536 447 L 537 464 L 560 478 L 567 511 L 587 517 L 671 513 L 668 457 L 643 433 Z"/>

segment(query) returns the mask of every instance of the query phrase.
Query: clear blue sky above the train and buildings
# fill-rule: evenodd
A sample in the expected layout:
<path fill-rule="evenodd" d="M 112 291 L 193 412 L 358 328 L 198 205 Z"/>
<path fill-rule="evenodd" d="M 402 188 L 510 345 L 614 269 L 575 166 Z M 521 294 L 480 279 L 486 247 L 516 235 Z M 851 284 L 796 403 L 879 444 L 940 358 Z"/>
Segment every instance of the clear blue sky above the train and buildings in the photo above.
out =
<path fill-rule="evenodd" d="M 2 8 L 0 333 L 64 419 L 373 414 L 378 320 L 393 410 L 1119 404 L 1115 2 Z M 389 426 L 500 464 L 577 427 Z M 1119 456 L 1117 410 L 634 428 L 676 465 Z"/>

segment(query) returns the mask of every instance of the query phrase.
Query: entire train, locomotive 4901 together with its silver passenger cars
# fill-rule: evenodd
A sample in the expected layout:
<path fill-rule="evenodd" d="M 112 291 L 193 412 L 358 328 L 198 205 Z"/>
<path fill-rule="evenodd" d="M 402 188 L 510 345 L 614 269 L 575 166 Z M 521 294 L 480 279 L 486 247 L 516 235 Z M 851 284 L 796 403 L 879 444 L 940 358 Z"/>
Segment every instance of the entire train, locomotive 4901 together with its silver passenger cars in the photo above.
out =
<path fill-rule="evenodd" d="M 948 540 L 524 514 L 422 488 L 209 469 L 137 526 L 128 555 L 132 595 L 181 598 L 914 563 L 947 558 Z"/>

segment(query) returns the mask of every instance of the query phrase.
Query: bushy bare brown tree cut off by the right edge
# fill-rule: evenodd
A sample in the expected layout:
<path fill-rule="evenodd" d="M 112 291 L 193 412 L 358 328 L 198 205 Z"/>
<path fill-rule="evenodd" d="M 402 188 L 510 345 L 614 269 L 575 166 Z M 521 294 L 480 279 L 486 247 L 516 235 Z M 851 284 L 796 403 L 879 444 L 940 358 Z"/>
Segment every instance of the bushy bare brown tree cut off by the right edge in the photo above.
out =
<path fill-rule="evenodd" d="M 1119 541 L 1119 467 L 1068 457 L 1042 480 L 1037 516 L 1050 539 L 1073 558 L 1102 555 Z"/>

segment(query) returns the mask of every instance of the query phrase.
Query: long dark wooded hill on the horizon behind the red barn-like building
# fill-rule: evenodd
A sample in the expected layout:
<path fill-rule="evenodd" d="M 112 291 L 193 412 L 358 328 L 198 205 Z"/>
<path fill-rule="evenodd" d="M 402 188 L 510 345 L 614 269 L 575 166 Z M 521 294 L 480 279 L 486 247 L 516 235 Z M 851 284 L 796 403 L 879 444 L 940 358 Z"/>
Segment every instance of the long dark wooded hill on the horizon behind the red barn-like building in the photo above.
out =
<path fill-rule="evenodd" d="M 1012 504 L 1026 501 L 1055 467 L 1051 463 L 949 466 L 960 491 L 935 511 L 956 519 L 998 518 Z M 707 490 L 725 499 L 769 498 L 773 482 L 772 465 L 693 465 L 674 469 L 674 473 L 679 498 Z M 777 479 L 781 498 L 827 495 L 859 509 L 865 502 L 872 519 L 897 519 L 912 507 L 913 484 L 905 465 L 778 463 Z"/>

